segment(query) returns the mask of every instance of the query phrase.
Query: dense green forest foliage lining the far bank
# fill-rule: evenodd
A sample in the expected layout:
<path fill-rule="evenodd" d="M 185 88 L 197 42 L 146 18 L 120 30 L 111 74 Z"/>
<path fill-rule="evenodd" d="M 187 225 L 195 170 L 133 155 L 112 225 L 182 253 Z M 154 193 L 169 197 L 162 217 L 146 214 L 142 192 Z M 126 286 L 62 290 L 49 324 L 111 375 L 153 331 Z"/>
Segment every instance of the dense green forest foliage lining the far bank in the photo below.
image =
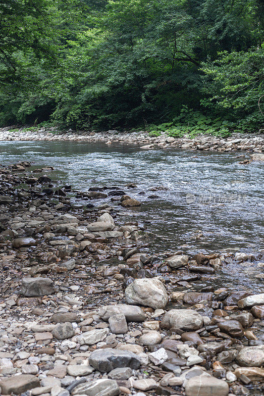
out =
<path fill-rule="evenodd" d="M 0 0 L 0 124 L 264 123 L 262 0 Z"/>

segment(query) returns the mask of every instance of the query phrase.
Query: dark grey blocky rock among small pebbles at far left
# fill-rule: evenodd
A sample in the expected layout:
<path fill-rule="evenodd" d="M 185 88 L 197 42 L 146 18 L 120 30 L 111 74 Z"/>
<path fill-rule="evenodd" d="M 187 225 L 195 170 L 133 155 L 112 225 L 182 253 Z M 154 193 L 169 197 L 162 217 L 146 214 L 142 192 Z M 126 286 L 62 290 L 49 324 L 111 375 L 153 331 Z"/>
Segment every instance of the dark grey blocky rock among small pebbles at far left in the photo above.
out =
<path fill-rule="evenodd" d="M 53 281 L 49 278 L 23 278 L 21 293 L 25 297 L 47 296 L 54 293 Z"/>

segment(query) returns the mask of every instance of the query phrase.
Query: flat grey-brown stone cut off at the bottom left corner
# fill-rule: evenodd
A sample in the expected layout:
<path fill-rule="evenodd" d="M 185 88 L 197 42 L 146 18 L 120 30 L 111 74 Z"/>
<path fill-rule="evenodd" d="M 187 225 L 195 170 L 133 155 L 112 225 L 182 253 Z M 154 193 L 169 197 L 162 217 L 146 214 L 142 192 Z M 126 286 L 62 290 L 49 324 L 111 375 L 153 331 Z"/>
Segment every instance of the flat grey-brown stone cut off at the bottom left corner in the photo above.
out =
<path fill-rule="evenodd" d="M 21 374 L 0 380 L 1 395 L 20 395 L 30 389 L 40 386 L 40 381 L 35 375 Z"/>

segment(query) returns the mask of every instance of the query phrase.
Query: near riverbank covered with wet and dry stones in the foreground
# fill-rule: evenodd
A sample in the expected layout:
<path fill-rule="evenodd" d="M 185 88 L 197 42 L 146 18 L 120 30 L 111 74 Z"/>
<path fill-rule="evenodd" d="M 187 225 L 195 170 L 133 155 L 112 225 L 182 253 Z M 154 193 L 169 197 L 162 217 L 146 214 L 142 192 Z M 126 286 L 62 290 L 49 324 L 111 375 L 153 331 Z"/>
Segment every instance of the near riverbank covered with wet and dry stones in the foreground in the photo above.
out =
<path fill-rule="evenodd" d="M 153 255 L 117 215 L 134 185 L 72 191 L 30 165 L 0 169 L 2 395 L 263 394 L 264 293 L 214 286 L 263 251 Z"/>

